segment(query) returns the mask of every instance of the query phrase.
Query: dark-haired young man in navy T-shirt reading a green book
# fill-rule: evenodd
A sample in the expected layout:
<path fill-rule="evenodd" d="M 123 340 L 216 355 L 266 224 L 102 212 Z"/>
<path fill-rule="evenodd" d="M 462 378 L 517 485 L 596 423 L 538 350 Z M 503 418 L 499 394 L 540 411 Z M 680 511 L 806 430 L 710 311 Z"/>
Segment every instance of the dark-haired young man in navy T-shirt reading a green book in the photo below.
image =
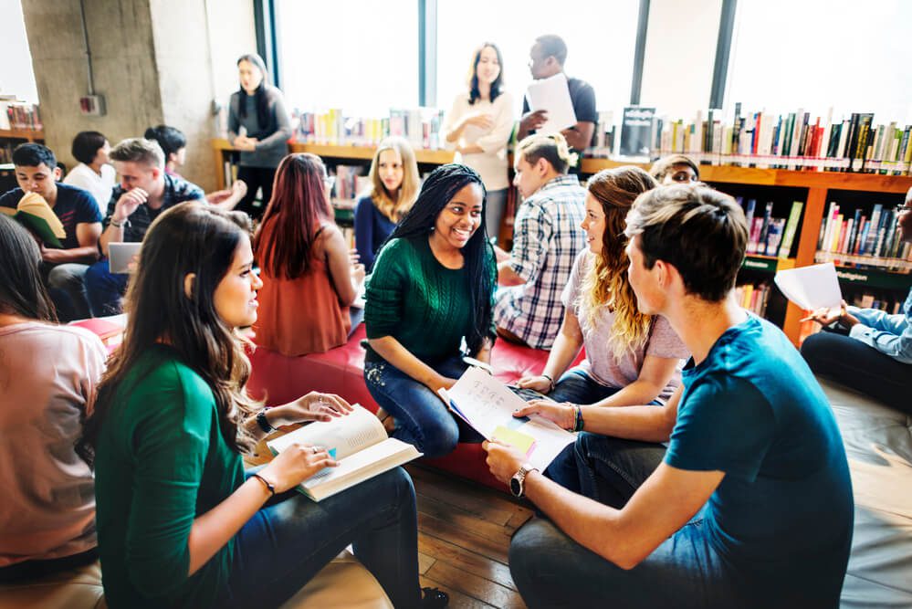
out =
<path fill-rule="evenodd" d="M 63 320 L 89 317 L 83 284 L 89 265 L 99 258 L 101 214 L 88 191 L 59 184 L 57 157 L 47 146 L 24 143 L 13 151 L 19 187 L 0 196 L 0 207 L 14 211 L 26 196 L 41 196 L 66 232 L 59 244 L 40 242 L 42 273 Z M 59 247 L 58 247 L 59 246 Z"/>

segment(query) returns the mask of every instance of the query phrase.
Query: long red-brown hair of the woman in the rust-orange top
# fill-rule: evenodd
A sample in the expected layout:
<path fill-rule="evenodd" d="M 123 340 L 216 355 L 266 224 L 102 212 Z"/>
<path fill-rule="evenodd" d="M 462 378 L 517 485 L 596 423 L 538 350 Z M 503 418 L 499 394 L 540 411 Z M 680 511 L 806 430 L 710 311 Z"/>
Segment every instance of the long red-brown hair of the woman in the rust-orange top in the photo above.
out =
<path fill-rule="evenodd" d="M 270 277 L 296 279 L 307 273 L 320 224 L 332 217 L 325 178 L 326 167 L 316 154 L 288 154 L 278 163 L 272 198 L 254 236 L 254 254 Z M 267 225 L 275 225 L 269 241 L 262 238 Z"/>

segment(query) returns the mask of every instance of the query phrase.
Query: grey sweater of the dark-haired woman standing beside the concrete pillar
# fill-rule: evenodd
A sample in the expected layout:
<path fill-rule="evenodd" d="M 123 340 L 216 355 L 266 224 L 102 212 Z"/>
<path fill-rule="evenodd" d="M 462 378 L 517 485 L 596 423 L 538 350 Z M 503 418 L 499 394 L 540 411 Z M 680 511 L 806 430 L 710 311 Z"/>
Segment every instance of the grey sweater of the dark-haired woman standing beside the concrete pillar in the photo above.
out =
<path fill-rule="evenodd" d="M 248 137 L 257 138 L 257 150 L 241 152 L 240 164 L 248 167 L 278 167 L 288 154 L 288 138 L 291 137 L 291 121 L 285 109 L 285 98 L 282 92 L 271 85 L 265 85 L 268 102 L 267 124 L 259 124 L 257 105 L 252 95 L 235 91 L 231 94 L 228 106 L 228 139 L 235 141 L 237 131 L 246 129 Z M 240 118 L 241 104 L 246 104 L 246 116 Z"/>

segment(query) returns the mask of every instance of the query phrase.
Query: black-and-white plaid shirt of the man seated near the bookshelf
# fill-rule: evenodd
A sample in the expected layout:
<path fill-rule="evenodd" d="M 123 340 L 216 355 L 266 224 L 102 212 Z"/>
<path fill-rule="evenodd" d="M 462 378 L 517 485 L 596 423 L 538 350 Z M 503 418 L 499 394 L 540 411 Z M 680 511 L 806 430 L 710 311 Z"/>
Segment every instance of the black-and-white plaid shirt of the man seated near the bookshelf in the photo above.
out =
<path fill-rule="evenodd" d="M 519 206 L 509 266 L 525 283 L 498 288 L 494 320 L 530 347 L 550 349 L 561 329 L 561 291 L 586 247 L 585 198 L 575 175 L 561 175 Z"/>

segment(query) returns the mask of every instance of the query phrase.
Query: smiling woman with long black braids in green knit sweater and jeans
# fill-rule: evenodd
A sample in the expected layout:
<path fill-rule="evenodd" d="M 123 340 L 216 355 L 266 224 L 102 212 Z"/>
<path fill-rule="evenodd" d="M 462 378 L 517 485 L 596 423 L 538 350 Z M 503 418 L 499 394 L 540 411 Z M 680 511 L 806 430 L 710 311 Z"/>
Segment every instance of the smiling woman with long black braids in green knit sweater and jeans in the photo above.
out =
<path fill-rule="evenodd" d="M 414 207 L 373 266 L 364 321 L 364 378 L 393 416 L 392 436 L 442 457 L 459 440 L 481 442 L 437 394 L 466 371 L 468 354 L 490 359 L 494 252 L 485 238 L 485 186 L 465 165 L 427 176 Z"/>

